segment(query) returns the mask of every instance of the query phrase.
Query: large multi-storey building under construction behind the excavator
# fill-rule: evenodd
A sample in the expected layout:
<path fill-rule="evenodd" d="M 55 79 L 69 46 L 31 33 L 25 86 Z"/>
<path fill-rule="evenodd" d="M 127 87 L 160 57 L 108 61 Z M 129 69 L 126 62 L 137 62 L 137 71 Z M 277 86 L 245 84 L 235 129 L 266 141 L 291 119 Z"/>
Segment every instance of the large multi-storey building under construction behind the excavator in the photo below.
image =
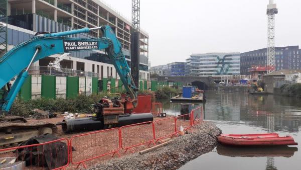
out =
<path fill-rule="evenodd" d="M 130 48 L 132 24 L 123 17 L 97 0 L 3 0 L 0 1 L 1 22 L 8 27 L 0 26 L 0 48 L 5 51 L 15 45 L 28 40 L 36 32 L 62 32 L 84 27 L 93 28 L 109 25 L 122 45 L 122 51 L 130 65 Z M 7 30 L 6 30 L 7 29 Z M 7 33 L 7 36 L 5 36 Z M 101 32 L 93 30 L 88 34 L 78 35 L 81 38 L 101 36 Z M 148 34 L 139 29 L 139 79 L 149 79 L 148 72 Z M 5 53 L 5 52 L 4 52 Z M 35 67 L 47 67 L 59 55 L 49 56 L 33 64 Z M 73 60 L 74 58 L 80 58 Z M 87 59 L 87 62 L 82 59 Z M 93 62 L 89 61 L 93 60 Z M 94 62 L 95 61 L 95 62 Z M 104 51 L 72 52 L 70 58 L 61 61 L 62 68 L 92 72 L 99 79 L 118 78 L 114 66 L 105 57 Z"/>

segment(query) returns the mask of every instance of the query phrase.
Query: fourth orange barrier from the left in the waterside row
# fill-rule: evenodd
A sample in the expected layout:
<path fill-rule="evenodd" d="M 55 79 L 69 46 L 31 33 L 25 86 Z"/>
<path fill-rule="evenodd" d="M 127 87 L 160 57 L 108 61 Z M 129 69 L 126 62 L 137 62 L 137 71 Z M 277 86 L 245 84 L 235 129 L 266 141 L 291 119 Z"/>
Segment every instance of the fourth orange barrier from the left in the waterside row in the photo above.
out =
<path fill-rule="evenodd" d="M 176 135 L 176 117 L 169 117 L 154 122 L 154 137 L 157 143 L 164 138 Z"/>

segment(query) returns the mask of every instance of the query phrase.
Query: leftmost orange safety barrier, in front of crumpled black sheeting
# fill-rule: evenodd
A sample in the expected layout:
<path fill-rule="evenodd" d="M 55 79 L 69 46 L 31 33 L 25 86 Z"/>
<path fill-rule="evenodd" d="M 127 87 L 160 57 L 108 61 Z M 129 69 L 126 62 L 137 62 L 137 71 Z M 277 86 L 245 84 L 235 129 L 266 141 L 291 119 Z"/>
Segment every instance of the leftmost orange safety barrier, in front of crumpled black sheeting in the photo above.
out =
<path fill-rule="evenodd" d="M 45 143 L 0 149 L 0 169 L 65 169 L 69 165 L 69 140 L 57 139 Z M 11 162 L 16 158 L 15 163 Z M 25 167 L 27 166 L 27 167 Z"/>

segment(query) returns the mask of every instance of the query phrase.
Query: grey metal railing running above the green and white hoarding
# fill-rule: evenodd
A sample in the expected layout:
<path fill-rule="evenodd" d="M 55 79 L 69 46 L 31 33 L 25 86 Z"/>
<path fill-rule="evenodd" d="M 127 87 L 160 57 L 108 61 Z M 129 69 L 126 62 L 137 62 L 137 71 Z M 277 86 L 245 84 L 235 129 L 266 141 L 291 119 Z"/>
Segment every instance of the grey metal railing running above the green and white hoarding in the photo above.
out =
<path fill-rule="evenodd" d="M 74 70 L 69 68 L 56 68 L 46 66 L 31 66 L 29 68 L 31 75 L 56 75 L 56 76 L 86 76 L 98 77 L 98 73 L 90 71 Z"/>

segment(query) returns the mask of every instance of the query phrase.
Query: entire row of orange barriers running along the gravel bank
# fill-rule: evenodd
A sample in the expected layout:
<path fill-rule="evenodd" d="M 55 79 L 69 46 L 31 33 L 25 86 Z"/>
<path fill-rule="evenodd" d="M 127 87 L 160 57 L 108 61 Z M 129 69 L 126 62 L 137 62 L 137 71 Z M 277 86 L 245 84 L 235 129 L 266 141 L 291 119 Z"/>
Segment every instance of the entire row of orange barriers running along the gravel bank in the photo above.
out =
<path fill-rule="evenodd" d="M 158 141 L 163 142 L 165 138 L 177 136 L 181 126 L 186 131 L 194 124 L 202 121 L 203 107 L 200 106 L 189 114 L 177 117 L 79 134 L 72 136 L 70 140 L 62 138 L 46 143 L 0 149 L 0 153 L 6 152 L 0 154 L 0 160 L 7 159 L 7 156 L 14 156 L 17 157 L 16 162 L 24 165 L 26 163 L 29 169 L 45 169 L 38 166 L 46 162 L 45 154 L 50 154 L 51 159 L 47 162 L 50 169 L 65 169 L 66 167 L 76 169 L 81 164 L 87 168 L 85 162 L 105 155 L 120 157 L 119 152 L 121 150 L 124 150 L 122 154 L 125 154 L 127 150 L 133 153 L 133 147 L 141 150 L 145 146 L 156 145 Z M 89 140 L 83 142 L 83 139 Z M 53 152 L 46 153 L 44 152 L 46 149 Z M 15 164 L 10 164 L 7 167 L 13 169 Z M 4 168 L 6 168 L 4 165 L 0 165 L 0 169 Z"/>

